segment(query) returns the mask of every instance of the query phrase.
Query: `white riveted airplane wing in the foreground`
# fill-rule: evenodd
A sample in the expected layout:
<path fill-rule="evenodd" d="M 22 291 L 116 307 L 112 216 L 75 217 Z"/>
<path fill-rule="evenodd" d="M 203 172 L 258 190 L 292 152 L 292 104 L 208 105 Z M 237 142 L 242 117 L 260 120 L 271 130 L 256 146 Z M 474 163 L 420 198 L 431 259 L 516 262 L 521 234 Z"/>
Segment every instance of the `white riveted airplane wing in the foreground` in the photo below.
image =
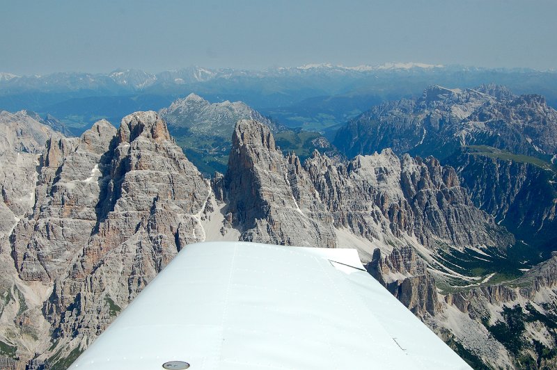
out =
<path fill-rule="evenodd" d="M 471 369 L 356 250 L 187 246 L 70 369 Z"/>

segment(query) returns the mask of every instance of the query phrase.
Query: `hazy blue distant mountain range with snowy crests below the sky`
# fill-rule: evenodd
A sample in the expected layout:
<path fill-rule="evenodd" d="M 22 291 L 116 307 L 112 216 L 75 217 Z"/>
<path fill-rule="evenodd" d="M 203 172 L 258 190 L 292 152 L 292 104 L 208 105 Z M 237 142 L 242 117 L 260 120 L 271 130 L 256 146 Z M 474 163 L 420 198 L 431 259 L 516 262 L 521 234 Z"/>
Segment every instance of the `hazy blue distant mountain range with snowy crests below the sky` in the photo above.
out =
<path fill-rule="evenodd" d="M 557 72 L 528 69 L 387 63 L 345 67 L 312 64 L 262 71 L 188 67 L 152 74 L 0 74 L 0 109 L 50 113 L 80 134 L 100 118 L 119 120 L 134 111 L 169 106 L 190 93 L 210 102 L 242 101 L 288 127 L 332 132 L 371 106 L 421 95 L 427 86 L 473 88 L 498 83 L 515 93 L 544 95 L 557 106 Z"/>

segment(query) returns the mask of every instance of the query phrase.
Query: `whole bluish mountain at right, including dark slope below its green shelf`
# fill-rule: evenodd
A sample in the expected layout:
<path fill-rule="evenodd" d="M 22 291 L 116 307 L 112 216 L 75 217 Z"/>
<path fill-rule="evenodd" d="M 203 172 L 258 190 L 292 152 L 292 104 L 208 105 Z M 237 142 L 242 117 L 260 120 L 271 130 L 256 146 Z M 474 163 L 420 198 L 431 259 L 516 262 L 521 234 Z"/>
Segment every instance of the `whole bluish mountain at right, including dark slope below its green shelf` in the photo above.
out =
<path fill-rule="evenodd" d="M 494 85 L 430 86 L 418 99 L 375 106 L 351 120 L 334 143 L 347 155 L 390 148 L 434 156 L 456 169 L 476 207 L 517 239 L 553 250 L 556 138 L 557 111 L 540 95 L 517 97 Z"/>

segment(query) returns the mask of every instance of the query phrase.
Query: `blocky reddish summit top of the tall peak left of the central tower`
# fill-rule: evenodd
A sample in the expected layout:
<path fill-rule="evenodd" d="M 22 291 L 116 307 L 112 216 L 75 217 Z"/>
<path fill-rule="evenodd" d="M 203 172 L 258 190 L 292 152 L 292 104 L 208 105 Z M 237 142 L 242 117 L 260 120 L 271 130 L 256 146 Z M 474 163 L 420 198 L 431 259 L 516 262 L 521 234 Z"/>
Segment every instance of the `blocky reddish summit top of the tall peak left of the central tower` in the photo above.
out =
<path fill-rule="evenodd" d="M 126 115 L 118 129 L 120 143 L 131 143 L 139 136 L 159 140 L 171 140 L 166 122 L 154 111 Z"/>

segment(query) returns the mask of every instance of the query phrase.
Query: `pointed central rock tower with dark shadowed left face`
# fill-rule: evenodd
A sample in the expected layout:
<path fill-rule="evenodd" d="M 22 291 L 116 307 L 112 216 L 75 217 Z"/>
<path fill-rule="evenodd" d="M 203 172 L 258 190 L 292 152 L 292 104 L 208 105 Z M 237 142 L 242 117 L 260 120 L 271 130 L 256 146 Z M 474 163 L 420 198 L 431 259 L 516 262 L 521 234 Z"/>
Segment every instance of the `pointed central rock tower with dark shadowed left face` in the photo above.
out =
<path fill-rule="evenodd" d="M 299 160 L 285 158 L 268 127 L 240 120 L 226 173 L 233 223 L 242 240 L 334 248 L 332 220 L 301 172 Z"/>

